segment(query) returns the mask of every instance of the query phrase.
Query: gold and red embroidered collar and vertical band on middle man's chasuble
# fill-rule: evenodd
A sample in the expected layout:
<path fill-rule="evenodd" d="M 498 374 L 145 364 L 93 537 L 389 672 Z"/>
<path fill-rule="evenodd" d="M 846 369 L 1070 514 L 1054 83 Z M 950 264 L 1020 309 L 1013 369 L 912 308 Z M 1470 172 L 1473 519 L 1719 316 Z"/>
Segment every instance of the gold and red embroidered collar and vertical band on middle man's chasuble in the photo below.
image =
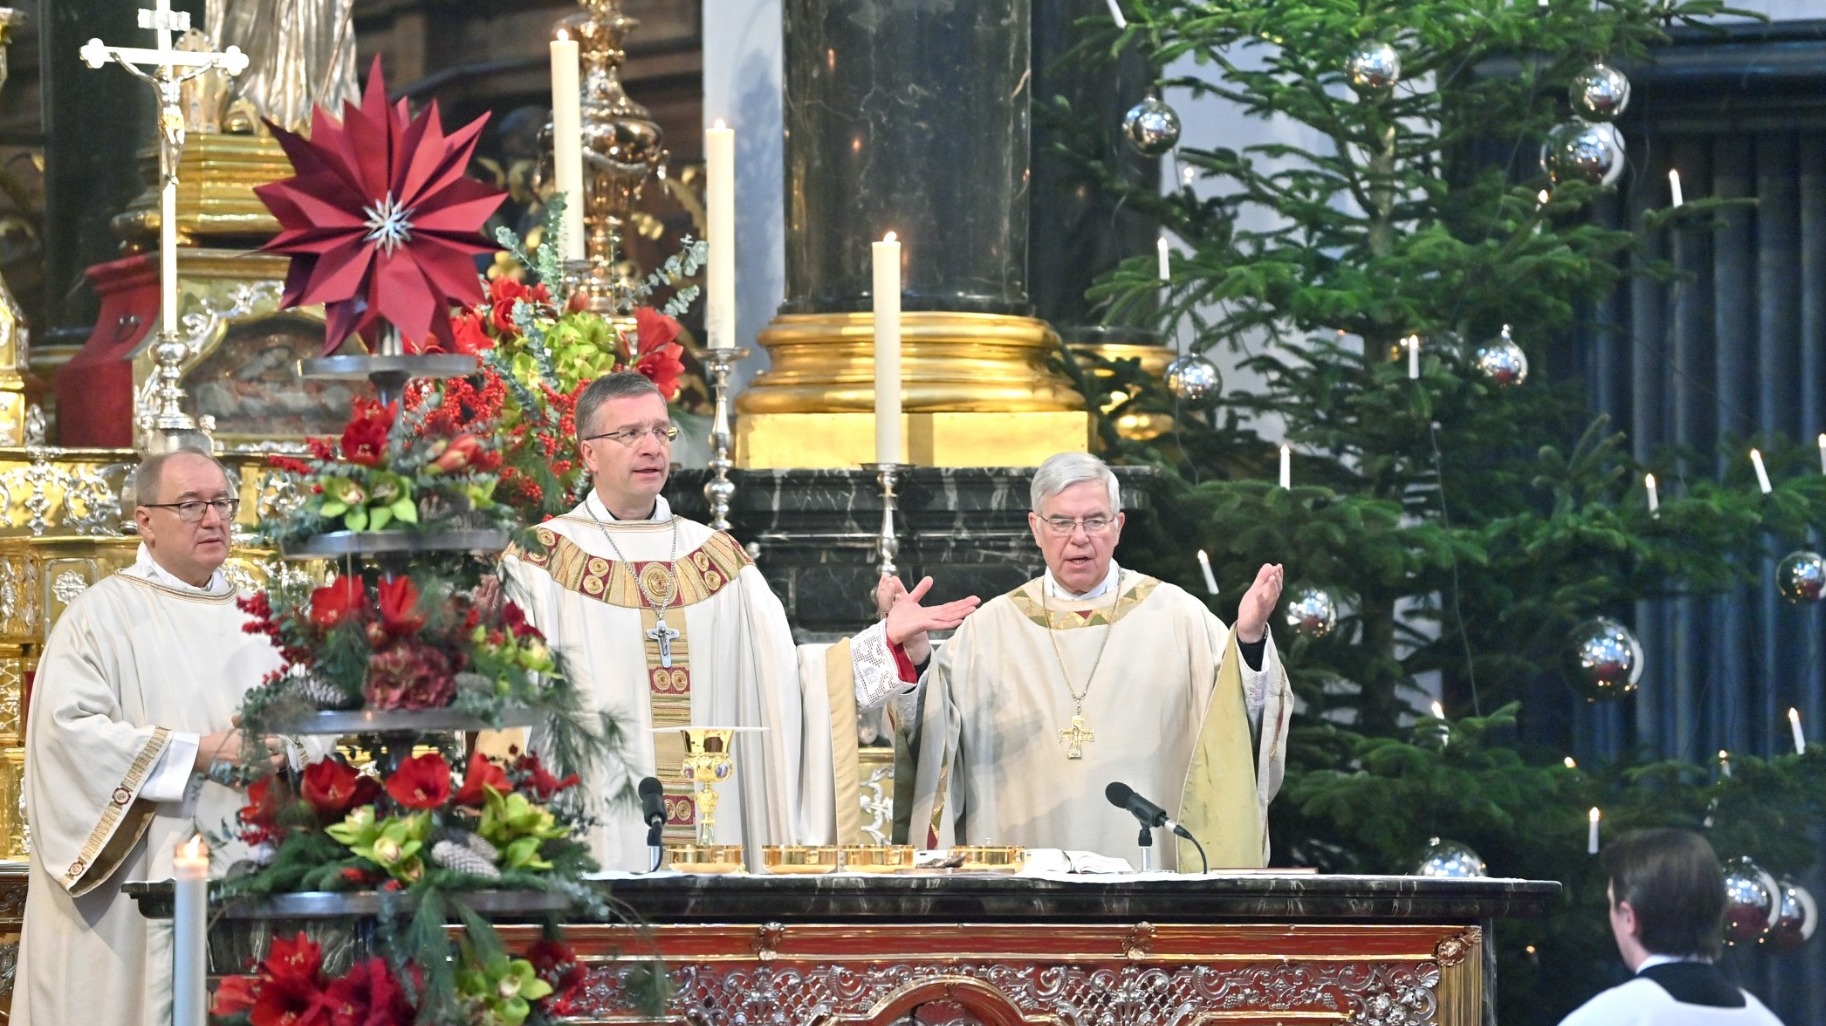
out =
<path fill-rule="evenodd" d="M 572 517 L 566 517 L 572 518 Z M 581 520 L 579 522 L 588 522 Z M 698 840 L 698 805 L 692 785 L 685 780 L 685 736 L 668 727 L 690 727 L 690 637 L 685 617 L 668 617 L 672 637 L 672 666 L 661 665 L 659 639 L 650 635 L 659 626 L 659 613 L 646 595 L 665 595 L 668 568 L 665 560 L 621 562 L 584 551 L 577 542 L 550 528 L 533 531 L 542 551 L 511 548 L 509 553 L 551 575 L 566 592 L 621 608 L 641 610 L 641 650 L 646 654 L 646 703 L 654 721 L 654 776 L 665 785 L 666 843 Z M 681 610 L 729 588 L 741 568 L 754 560 L 736 539 L 723 531 L 710 535 L 703 546 L 679 555 L 677 592 L 666 610 Z M 641 592 L 641 579 L 646 592 Z"/>

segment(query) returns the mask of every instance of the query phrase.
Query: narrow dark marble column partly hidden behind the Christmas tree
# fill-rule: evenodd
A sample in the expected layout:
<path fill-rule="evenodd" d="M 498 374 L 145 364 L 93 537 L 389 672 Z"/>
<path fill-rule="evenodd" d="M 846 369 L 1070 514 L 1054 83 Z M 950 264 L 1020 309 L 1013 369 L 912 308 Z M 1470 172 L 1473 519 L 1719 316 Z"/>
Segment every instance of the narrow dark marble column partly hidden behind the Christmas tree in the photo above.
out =
<path fill-rule="evenodd" d="M 1154 68 L 1138 46 L 1116 60 L 1066 51 L 1088 35 L 1079 18 L 1108 15 L 1105 0 L 1048 0 L 1034 5 L 1034 188 L 1028 228 L 1028 292 L 1034 316 L 1068 343 L 1156 343 L 1154 332 L 1101 325 L 1085 292 L 1130 256 L 1152 254 L 1160 225 L 1119 206 L 1081 170 L 1079 153 L 1114 162 L 1125 177 L 1160 184 L 1158 157 L 1123 142 L 1123 115 L 1141 102 Z M 1068 111 L 1057 110 L 1065 100 Z M 1061 153 L 1061 148 L 1072 153 Z"/>

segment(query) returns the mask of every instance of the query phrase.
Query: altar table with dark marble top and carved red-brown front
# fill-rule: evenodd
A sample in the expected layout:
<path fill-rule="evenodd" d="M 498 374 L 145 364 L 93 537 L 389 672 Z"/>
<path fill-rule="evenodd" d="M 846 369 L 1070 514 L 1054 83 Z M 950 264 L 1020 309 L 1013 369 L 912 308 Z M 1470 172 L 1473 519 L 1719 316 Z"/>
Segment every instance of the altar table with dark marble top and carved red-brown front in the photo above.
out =
<path fill-rule="evenodd" d="M 570 926 L 581 1022 L 1492 1022 L 1488 929 L 1552 882 L 1408 876 L 654 876 Z M 509 942 L 530 942 L 520 927 Z M 654 1019 L 628 980 L 657 957 Z"/>

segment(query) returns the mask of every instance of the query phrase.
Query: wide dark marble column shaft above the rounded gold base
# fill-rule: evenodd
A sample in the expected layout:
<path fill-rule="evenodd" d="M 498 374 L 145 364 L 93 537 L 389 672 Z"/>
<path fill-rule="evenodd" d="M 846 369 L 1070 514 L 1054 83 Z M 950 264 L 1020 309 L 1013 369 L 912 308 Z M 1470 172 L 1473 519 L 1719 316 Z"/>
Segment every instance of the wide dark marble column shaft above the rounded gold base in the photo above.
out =
<path fill-rule="evenodd" d="M 1050 2 L 1050 0 L 1048 0 Z M 898 232 L 902 307 L 1028 314 L 1028 0 L 785 0 L 787 301 L 869 309 Z"/>

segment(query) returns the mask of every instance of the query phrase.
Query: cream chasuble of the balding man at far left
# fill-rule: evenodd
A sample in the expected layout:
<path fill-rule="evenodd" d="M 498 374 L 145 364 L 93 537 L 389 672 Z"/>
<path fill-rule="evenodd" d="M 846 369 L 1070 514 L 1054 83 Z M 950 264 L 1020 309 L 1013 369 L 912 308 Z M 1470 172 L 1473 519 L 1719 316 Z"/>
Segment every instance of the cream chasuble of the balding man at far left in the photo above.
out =
<path fill-rule="evenodd" d="M 247 688 L 279 666 L 245 633 L 234 592 L 205 595 L 117 573 L 51 630 L 26 727 L 31 887 L 13 1022 L 170 1026 L 170 920 L 121 895 L 168 880 L 172 851 L 234 822 L 237 790 L 192 780 L 184 803 L 139 796 L 173 730 L 232 728 Z M 221 874 L 239 843 L 217 845 Z"/>

